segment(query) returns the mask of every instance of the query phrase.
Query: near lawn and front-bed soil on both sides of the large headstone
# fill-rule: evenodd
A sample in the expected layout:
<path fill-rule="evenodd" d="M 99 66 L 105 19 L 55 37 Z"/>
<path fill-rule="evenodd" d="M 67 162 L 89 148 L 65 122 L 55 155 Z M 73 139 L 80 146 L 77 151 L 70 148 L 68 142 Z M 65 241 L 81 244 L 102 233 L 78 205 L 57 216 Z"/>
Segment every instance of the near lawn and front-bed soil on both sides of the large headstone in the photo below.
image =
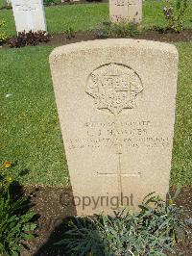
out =
<path fill-rule="evenodd" d="M 171 184 L 173 188 L 183 186 L 179 204 L 192 211 L 192 43 L 175 45 L 180 53 L 180 68 Z M 24 255 L 35 251 L 37 255 L 48 251 L 48 255 L 58 255 L 53 243 L 62 235 L 62 226 L 56 225 L 61 218 L 75 214 L 73 206 L 60 203 L 60 195 L 71 189 L 48 64 L 53 48 L 0 51 L 1 158 L 17 161 L 13 168 L 16 179 L 31 194 L 33 209 L 40 215 L 38 237 Z M 183 250 L 190 255 L 190 243 L 181 247 Z"/>

